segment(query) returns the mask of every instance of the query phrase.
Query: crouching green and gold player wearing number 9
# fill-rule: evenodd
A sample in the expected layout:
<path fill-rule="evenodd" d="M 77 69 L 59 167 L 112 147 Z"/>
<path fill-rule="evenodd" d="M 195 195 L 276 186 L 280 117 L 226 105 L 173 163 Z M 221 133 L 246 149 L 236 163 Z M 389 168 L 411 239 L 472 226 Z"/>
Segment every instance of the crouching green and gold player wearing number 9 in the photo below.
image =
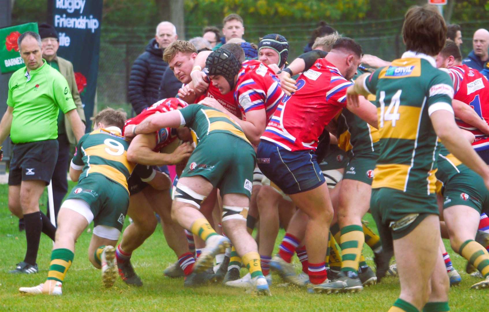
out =
<path fill-rule="evenodd" d="M 78 184 L 61 205 L 47 280 L 21 287 L 30 294 L 61 295 L 62 283 L 75 256 L 75 242 L 94 221 L 89 260 L 102 268 L 102 280 L 111 287 L 117 277 L 115 248 L 129 205 L 127 179 L 135 164 L 127 159 L 129 141 L 122 136 L 126 113 L 111 108 L 100 111 L 93 131 L 80 138 L 69 175 Z"/>

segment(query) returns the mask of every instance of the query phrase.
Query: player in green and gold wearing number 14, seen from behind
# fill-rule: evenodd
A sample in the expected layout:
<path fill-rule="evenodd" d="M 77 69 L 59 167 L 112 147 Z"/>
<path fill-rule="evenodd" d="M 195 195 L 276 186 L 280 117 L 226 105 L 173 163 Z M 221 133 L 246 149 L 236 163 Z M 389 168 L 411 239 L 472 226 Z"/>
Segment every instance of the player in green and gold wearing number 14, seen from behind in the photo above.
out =
<path fill-rule="evenodd" d="M 435 197 L 437 135 L 450 152 L 484 178 L 486 186 L 489 168 L 457 127 L 451 107 L 452 82 L 436 69 L 434 57 L 446 38 L 445 21 L 437 8 L 410 8 L 402 36 L 407 48 L 402 58 L 356 79 L 347 91 L 348 101 L 355 105 L 359 94 L 377 96 L 380 155 L 370 209 L 383 248 L 394 250 L 397 260 L 401 293 L 390 311 L 449 311 L 443 257 L 432 252 L 440 242 Z"/>

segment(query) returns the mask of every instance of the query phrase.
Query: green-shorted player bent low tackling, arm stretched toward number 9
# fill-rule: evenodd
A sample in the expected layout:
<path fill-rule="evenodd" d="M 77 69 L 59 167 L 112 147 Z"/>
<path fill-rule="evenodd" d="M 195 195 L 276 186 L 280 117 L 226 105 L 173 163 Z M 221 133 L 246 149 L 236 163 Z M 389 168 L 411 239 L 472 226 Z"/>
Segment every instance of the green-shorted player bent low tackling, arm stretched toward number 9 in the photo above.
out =
<path fill-rule="evenodd" d="M 214 52 L 213 52 L 214 53 Z M 234 60 L 239 64 L 238 60 Z M 128 125 L 125 134 L 153 133 L 164 127 L 191 129 L 196 149 L 178 179 L 172 204 L 173 220 L 205 241 L 205 248 L 194 270 L 212 267 L 214 256 L 230 245 L 227 237 L 219 235 L 200 213 L 200 203 L 213 188 L 222 195 L 222 227 L 253 279 L 252 285 L 260 294 L 270 294 L 260 266 L 256 242 L 246 231 L 246 214 L 251 196 L 251 180 L 255 152 L 241 127 L 226 114 L 194 104 L 183 109 L 154 114 L 137 126 Z"/>

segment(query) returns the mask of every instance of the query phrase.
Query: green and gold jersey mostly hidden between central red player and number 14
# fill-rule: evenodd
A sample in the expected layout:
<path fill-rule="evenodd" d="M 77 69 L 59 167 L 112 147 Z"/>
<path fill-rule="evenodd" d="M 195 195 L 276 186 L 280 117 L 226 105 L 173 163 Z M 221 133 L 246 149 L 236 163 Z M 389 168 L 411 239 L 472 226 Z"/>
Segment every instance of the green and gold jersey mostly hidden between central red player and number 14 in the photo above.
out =
<path fill-rule="evenodd" d="M 378 157 L 378 130 L 362 120 L 356 114 L 343 109 L 338 119 L 338 147 L 348 157 Z"/>

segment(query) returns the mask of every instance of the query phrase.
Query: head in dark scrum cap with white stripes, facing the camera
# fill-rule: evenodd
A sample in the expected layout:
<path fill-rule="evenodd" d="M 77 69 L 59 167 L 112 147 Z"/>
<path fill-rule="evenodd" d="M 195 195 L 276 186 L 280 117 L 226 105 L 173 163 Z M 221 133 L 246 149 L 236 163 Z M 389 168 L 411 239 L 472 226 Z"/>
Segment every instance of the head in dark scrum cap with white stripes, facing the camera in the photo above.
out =
<path fill-rule="evenodd" d="M 284 36 L 279 34 L 268 34 L 258 44 L 258 59 L 270 68 L 275 64 L 280 70 L 284 69 L 285 62 L 289 56 L 289 43 Z"/>

